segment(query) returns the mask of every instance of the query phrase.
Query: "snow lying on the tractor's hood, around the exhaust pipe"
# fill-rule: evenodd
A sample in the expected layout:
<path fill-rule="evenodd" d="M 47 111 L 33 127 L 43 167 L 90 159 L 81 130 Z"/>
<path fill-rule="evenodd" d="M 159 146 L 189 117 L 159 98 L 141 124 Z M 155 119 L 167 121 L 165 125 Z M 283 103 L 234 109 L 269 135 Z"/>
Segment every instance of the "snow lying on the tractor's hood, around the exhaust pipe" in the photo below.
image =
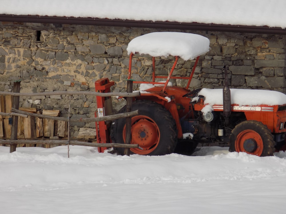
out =
<path fill-rule="evenodd" d="M 223 89 L 202 88 L 198 95 L 205 97 L 205 104 L 223 105 Z M 278 91 L 231 88 L 231 104 L 240 106 L 283 105 L 286 104 L 286 95 Z"/>

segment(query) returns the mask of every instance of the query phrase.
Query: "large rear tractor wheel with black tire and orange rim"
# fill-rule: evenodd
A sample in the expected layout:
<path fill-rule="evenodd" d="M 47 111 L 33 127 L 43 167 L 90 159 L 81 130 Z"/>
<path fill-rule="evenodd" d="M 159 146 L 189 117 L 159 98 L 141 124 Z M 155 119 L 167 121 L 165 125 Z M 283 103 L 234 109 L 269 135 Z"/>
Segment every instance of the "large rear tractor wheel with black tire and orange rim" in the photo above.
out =
<path fill-rule="evenodd" d="M 139 144 L 144 150 L 131 148 L 130 154 L 166 155 L 174 152 L 177 144 L 176 122 L 164 106 L 150 100 L 136 100 L 132 103 L 132 111 L 139 110 L 132 117 L 131 144 Z M 126 112 L 126 106 L 118 113 Z M 112 123 L 111 138 L 115 143 L 124 144 L 126 118 L 120 118 Z M 143 128 L 142 128 L 143 127 Z M 116 148 L 119 155 L 124 154 L 124 148 Z"/>

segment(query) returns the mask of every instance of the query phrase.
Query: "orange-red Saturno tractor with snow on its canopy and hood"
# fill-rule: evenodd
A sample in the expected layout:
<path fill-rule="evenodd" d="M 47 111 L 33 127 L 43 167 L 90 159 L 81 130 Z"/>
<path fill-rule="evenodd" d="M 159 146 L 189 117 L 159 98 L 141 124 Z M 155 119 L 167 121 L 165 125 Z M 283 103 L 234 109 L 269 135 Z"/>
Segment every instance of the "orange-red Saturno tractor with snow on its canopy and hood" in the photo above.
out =
<path fill-rule="evenodd" d="M 229 89 L 227 68 L 223 89 L 189 90 L 199 56 L 209 51 L 206 37 L 177 32 L 157 32 L 130 41 L 129 79 L 132 57 L 152 56 L 152 81 L 141 84 L 141 95 L 134 98 L 131 119 L 131 154 L 190 154 L 198 143 L 229 143 L 229 151 L 257 156 L 272 156 L 285 144 L 286 95 L 275 91 Z M 149 57 L 150 57 L 149 56 Z M 156 57 L 174 56 L 168 75 L 156 74 Z M 173 75 L 179 57 L 195 59 L 188 77 Z M 165 79 L 165 81 L 160 81 Z M 170 80 L 181 79 L 185 87 L 173 86 Z M 157 81 L 156 81 L 157 80 Z M 159 81 L 158 81 L 159 80 Z M 146 87 L 148 86 L 148 87 Z M 262 97 L 261 97 L 262 96 Z M 126 112 L 126 106 L 118 113 Z M 113 142 L 125 143 L 126 119 L 115 120 L 110 128 Z M 183 148 L 183 150 L 182 150 Z M 124 149 L 116 149 L 124 154 Z"/>

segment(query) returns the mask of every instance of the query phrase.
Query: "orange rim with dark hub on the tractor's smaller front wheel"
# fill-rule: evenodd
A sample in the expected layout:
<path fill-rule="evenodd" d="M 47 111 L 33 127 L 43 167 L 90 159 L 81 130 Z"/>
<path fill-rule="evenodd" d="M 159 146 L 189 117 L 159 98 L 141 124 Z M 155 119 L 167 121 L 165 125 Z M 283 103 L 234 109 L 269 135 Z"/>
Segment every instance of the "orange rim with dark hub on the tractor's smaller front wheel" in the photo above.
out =
<path fill-rule="evenodd" d="M 261 156 L 263 140 L 260 134 L 251 129 L 240 132 L 235 140 L 235 151 Z"/>

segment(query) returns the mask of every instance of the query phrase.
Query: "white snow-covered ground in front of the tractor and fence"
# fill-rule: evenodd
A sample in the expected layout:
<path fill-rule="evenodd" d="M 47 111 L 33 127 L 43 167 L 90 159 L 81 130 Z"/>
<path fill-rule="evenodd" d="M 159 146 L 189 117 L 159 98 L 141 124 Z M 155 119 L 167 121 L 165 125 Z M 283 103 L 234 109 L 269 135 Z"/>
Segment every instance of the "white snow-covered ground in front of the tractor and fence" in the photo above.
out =
<path fill-rule="evenodd" d="M 193 156 L 0 146 L 1 213 L 285 213 L 286 153 Z"/>

